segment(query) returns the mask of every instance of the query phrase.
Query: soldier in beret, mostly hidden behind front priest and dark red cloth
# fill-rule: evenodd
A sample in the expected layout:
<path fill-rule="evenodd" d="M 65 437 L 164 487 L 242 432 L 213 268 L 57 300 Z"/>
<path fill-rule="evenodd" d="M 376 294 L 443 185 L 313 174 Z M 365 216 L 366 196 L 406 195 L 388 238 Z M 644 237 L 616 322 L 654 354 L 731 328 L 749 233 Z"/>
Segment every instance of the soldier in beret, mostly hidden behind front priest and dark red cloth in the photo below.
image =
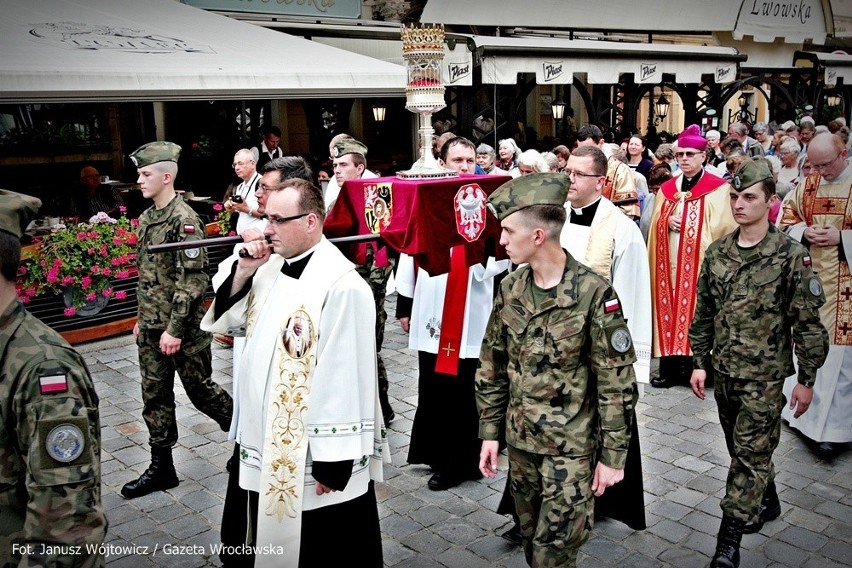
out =
<path fill-rule="evenodd" d="M 338 188 L 343 187 L 343 184 L 349 180 L 378 177 L 367 169 L 367 147 L 354 138 L 341 140 L 334 145 L 331 153 L 334 156 L 334 179 L 337 181 Z M 325 197 L 328 199 L 328 194 Z M 326 207 L 330 209 L 331 205 L 332 203 L 326 201 Z M 388 319 L 388 314 L 385 311 L 388 280 L 396 268 L 396 261 L 399 256 L 395 253 L 389 254 L 389 249 L 384 247 L 380 249 L 375 243 L 367 243 L 364 246 L 367 249 L 367 257 L 364 264 L 356 266 L 356 270 L 370 285 L 376 305 L 376 361 L 379 369 L 379 401 L 382 405 L 382 416 L 387 426 L 394 419 L 395 414 L 388 399 L 388 372 L 385 368 L 385 362 L 378 352 L 382 350 L 382 343 L 385 340 L 385 323 Z"/>

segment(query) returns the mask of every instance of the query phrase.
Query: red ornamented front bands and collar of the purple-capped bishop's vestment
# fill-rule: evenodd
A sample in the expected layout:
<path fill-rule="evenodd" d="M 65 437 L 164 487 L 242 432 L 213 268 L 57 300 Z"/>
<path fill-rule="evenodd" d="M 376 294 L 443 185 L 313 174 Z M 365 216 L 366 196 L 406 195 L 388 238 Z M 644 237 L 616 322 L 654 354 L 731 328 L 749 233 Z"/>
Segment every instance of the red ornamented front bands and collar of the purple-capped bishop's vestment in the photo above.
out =
<path fill-rule="evenodd" d="M 690 191 L 678 190 L 678 179 L 670 179 L 661 187 L 658 195 L 665 199 L 660 208 L 656 231 L 657 297 L 656 318 L 660 342 L 660 353 L 668 355 L 690 355 L 689 326 L 695 314 L 698 274 L 701 271 L 701 232 L 704 227 L 704 201 L 702 197 L 727 183 L 724 179 L 704 172 Z M 677 272 L 674 284 L 671 274 L 671 251 L 669 248 L 669 217 L 678 203 L 683 200 L 681 211 L 680 241 L 677 253 Z"/>

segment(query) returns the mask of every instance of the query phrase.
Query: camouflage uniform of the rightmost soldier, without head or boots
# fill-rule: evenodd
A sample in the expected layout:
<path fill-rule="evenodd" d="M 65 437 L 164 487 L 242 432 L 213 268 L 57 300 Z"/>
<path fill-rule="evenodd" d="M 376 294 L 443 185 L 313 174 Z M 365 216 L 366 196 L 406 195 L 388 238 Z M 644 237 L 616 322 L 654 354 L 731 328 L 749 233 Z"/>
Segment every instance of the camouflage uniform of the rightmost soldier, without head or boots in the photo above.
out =
<path fill-rule="evenodd" d="M 828 352 L 819 320 L 822 284 L 807 250 L 769 225 L 744 259 L 739 230 L 708 247 L 689 329 L 696 369 L 715 370 L 714 395 L 731 456 L 721 507 L 726 516 L 757 521 L 772 453 L 781 433 L 781 388 L 793 374 L 812 386 Z M 711 361 L 712 352 L 712 361 Z"/>

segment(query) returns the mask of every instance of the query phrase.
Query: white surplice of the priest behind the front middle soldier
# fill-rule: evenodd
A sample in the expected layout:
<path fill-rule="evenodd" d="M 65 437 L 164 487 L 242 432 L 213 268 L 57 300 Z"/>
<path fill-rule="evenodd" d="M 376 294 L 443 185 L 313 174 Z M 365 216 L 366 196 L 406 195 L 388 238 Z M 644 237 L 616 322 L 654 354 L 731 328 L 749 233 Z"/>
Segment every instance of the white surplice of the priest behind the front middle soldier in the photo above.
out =
<path fill-rule="evenodd" d="M 566 204 L 568 218 L 560 243 L 575 259 L 612 283 L 633 337 L 636 380 L 648 383 L 651 370 L 651 274 L 648 249 L 639 227 L 605 197 L 600 198 L 591 226 L 571 223 L 577 215 Z M 587 213 L 588 214 L 588 213 Z"/>

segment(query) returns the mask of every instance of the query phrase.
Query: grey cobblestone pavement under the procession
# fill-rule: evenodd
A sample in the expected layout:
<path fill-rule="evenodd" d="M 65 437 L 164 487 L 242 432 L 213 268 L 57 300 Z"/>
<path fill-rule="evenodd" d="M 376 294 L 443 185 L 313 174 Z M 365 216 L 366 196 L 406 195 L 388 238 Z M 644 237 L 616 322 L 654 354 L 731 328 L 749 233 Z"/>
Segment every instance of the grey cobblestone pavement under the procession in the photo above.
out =
<path fill-rule="evenodd" d="M 393 313 L 389 298 L 389 313 Z M 148 433 L 136 346 L 132 337 L 78 346 L 101 399 L 103 498 L 110 522 L 111 567 L 219 566 L 213 546 L 226 486 L 231 443 L 195 410 L 176 386 L 180 439 L 175 467 L 180 486 L 126 500 L 119 489 L 148 465 Z M 423 466 L 406 464 L 417 404 L 417 359 L 398 322 L 388 320 L 382 350 L 390 373 L 396 420 L 390 428 L 393 464 L 377 485 L 384 559 L 394 567 L 521 567 L 517 548 L 500 538 L 508 517 L 495 514 L 505 473 L 446 492 L 426 487 Z M 214 345 L 214 378 L 230 390 L 231 351 Z M 648 529 L 599 522 L 582 548 L 582 567 L 705 567 L 715 547 L 728 457 L 711 396 L 686 388 L 646 389 L 639 403 Z M 818 461 L 786 425 L 775 454 L 781 518 L 743 537 L 744 568 L 832 568 L 852 565 L 852 452 Z M 183 548 L 179 548 L 183 547 Z"/>

